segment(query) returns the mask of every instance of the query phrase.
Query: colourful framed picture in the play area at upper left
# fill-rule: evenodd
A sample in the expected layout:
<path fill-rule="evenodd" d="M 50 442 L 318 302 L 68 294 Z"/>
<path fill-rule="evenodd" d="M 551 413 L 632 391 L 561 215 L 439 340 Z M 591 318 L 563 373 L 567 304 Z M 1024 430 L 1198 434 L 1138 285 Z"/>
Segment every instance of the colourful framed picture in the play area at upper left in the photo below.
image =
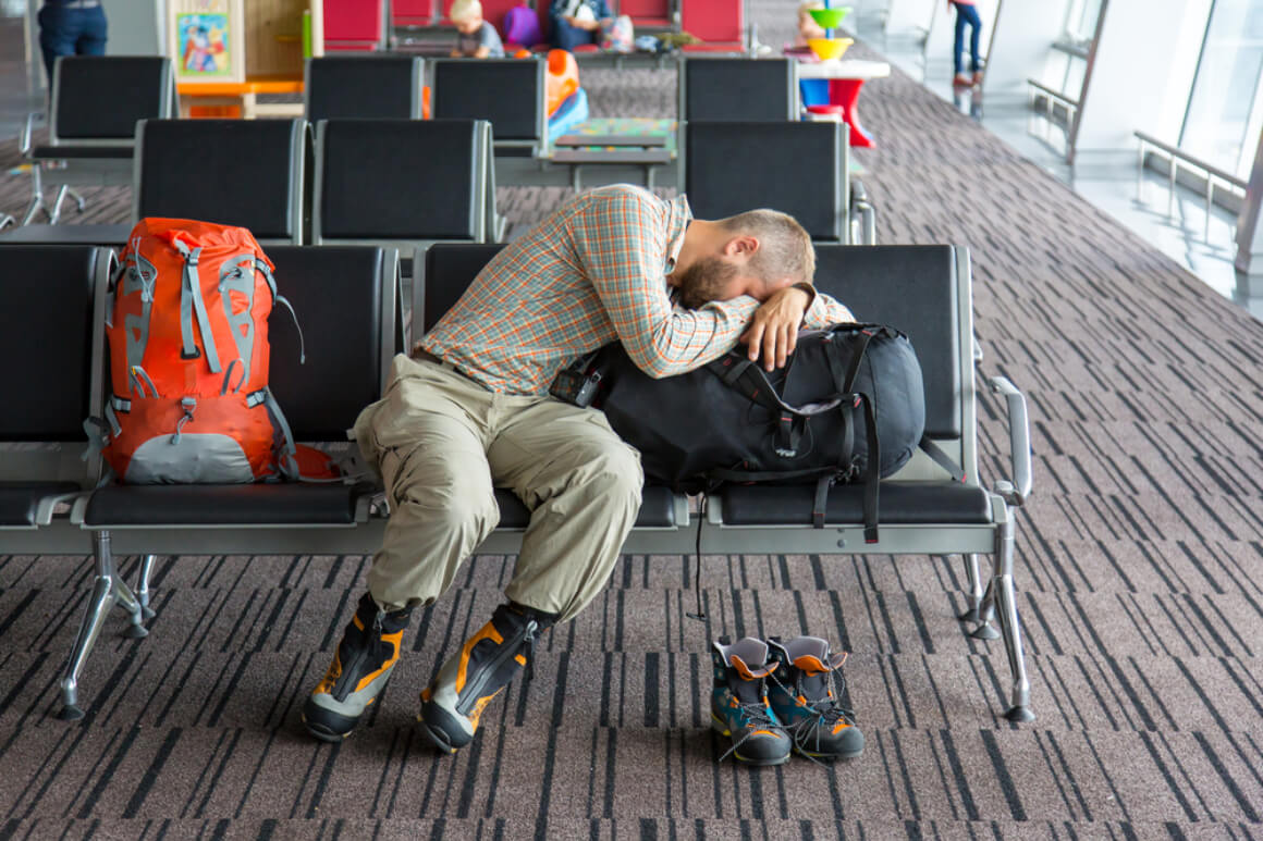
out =
<path fill-rule="evenodd" d="M 244 82 L 241 0 L 171 0 L 167 43 L 177 82 Z"/>

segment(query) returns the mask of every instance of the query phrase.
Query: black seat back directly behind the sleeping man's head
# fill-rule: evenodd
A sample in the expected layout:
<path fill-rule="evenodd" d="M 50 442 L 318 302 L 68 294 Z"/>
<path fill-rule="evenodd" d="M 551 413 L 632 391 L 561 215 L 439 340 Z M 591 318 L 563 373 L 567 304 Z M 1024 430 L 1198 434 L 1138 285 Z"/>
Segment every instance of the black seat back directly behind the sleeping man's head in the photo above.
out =
<path fill-rule="evenodd" d="M 770 207 L 813 240 L 845 242 L 849 149 L 839 122 L 690 122 L 679 165 L 697 218 Z"/>

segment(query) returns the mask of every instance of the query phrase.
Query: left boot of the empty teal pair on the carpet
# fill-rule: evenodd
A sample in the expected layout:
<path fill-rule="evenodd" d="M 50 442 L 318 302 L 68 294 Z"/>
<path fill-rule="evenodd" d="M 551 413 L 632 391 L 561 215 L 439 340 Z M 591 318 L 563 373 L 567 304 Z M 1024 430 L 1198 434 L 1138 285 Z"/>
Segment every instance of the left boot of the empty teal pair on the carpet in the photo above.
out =
<path fill-rule="evenodd" d="M 746 636 L 729 644 L 720 636 L 711 652 L 715 688 L 711 692 L 711 726 L 733 740 L 729 754 L 749 765 L 779 765 L 789 761 L 793 741 L 768 706 L 767 678 L 775 663 L 768 663 L 768 645 Z"/>

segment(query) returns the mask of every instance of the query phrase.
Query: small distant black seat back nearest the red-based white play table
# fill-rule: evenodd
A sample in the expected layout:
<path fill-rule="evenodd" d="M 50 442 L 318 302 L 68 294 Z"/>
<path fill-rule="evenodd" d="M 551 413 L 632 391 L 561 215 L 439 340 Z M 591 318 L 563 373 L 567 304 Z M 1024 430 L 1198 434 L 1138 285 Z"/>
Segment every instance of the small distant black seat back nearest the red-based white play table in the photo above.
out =
<path fill-rule="evenodd" d="M 792 58 L 686 58 L 679 119 L 783 122 L 798 119 L 798 62 Z"/>

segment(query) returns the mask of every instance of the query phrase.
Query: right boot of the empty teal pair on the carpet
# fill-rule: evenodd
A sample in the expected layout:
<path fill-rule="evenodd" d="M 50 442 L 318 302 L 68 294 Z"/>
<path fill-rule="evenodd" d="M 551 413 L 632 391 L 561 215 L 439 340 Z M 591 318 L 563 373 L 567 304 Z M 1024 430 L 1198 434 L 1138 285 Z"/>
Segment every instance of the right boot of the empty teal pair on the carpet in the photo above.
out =
<path fill-rule="evenodd" d="M 849 759 L 864 753 L 864 734 L 839 695 L 846 654 L 830 654 L 829 643 L 817 636 L 786 643 L 773 636 L 768 648 L 778 664 L 768 700 L 793 735 L 794 750 L 812 759 Z"/>

